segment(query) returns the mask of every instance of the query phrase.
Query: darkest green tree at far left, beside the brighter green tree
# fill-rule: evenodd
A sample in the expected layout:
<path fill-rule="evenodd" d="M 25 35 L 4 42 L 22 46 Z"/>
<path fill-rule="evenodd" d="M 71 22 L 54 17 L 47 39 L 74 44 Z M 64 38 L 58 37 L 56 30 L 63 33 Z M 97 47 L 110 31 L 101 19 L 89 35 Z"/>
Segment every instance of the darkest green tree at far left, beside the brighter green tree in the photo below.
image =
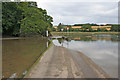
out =
<path fill-rule="evenodd" d="M 18 24 L 17 22 L 21 20 L 21 10 L 17 8 L 17 3 L 3 2 L 2 5 L 3 34 L 19 34 L 20 24 Z"/>

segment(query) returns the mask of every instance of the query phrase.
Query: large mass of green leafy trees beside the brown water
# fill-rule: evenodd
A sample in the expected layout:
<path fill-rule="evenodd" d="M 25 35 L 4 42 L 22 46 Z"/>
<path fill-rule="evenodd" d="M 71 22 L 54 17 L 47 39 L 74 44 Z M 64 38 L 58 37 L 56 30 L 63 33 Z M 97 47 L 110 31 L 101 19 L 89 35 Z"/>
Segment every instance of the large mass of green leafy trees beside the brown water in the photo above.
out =
<path fill-rule="evenodd" d="M 45 35 L 53 18 L 37 7 L 36 2 L 3 2 L 2 34 L 10 36 Z"/>

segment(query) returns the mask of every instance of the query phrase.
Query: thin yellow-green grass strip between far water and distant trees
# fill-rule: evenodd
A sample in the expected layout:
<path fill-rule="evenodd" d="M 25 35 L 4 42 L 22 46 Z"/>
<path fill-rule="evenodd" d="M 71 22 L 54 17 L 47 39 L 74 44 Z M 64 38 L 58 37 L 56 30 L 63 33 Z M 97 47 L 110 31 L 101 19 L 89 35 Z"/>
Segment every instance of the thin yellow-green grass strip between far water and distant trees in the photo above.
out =
<path fill-rule="evenodd" d="M 52 35 L 67 35 L 67 34 L 119 34 L 119 32 L 51 32 Z"/>

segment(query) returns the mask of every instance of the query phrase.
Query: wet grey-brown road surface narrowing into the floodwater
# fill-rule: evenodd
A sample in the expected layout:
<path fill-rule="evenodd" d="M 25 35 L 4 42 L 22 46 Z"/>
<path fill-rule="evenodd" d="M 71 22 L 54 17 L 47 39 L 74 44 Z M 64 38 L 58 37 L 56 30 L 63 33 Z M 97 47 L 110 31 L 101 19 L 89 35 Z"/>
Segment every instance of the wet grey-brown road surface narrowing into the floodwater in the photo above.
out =
<path fill-rule="evenodd" d="M 90 58 L 54 44 L 25 78 L 109 78 Z"/>

